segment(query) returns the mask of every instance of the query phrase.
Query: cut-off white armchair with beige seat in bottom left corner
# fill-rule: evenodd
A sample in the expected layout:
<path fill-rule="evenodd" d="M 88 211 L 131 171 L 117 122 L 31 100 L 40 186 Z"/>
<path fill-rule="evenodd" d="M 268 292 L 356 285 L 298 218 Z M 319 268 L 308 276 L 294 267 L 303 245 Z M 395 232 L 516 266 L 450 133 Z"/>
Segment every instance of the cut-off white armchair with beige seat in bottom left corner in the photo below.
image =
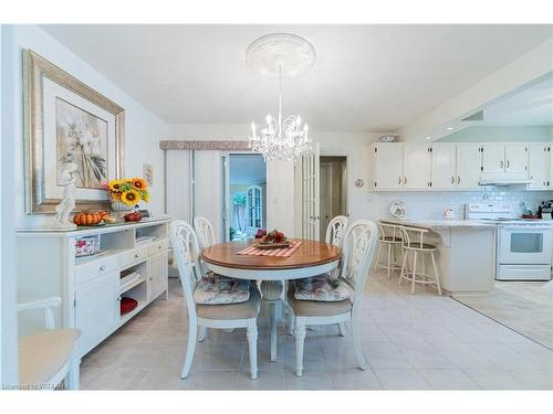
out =
<path fill-rule="evenodd" d="M 62 381 L 79 390 L 81 359 L 76 357 L 79 329 L 55 329 L 53 308 L 62 304 L 53 297 L 18 305 L 18 312 L 44 309 L 45 330 L 19 338 L 19 384 L 25 390 L 53 390 Z"/>

